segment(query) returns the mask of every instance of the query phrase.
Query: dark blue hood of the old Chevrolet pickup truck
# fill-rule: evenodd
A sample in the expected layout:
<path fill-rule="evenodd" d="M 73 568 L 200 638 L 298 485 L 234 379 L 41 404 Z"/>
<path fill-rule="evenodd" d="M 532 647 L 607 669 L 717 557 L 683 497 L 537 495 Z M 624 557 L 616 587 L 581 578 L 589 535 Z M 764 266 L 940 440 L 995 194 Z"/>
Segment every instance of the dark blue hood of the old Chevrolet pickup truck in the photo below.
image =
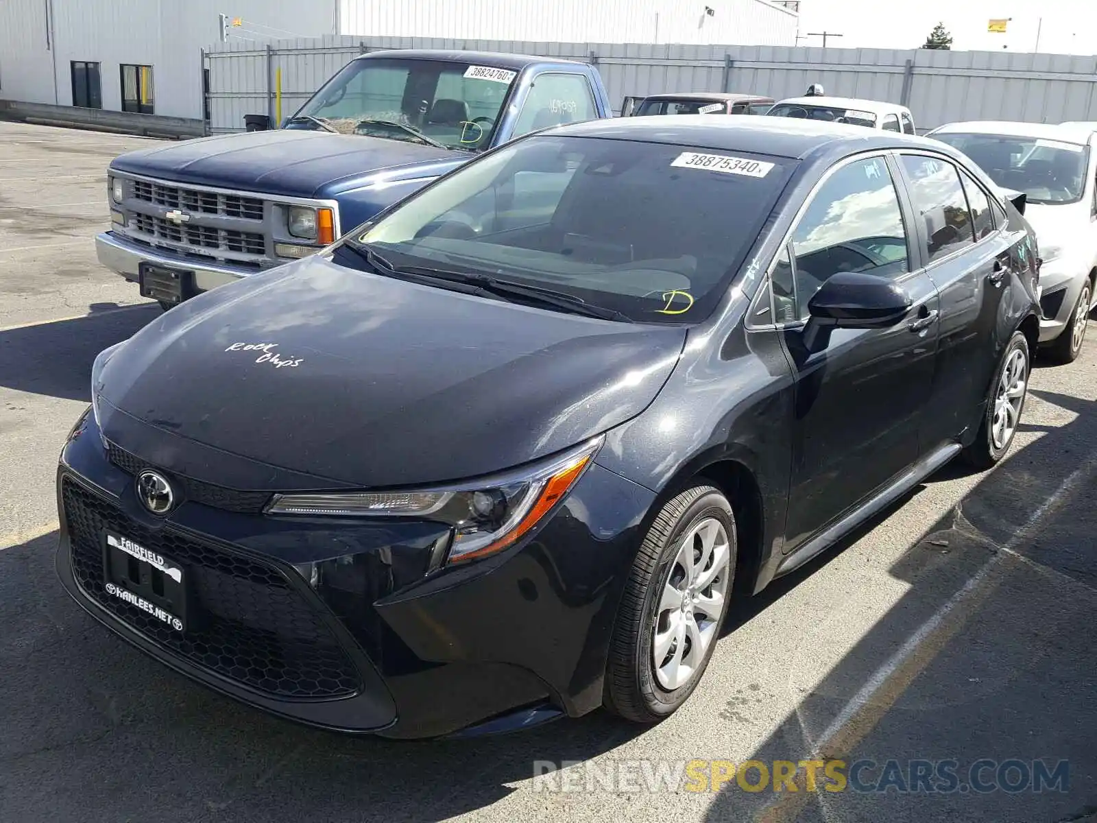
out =
<path fill-rule="evenodd" d="M 468 158 L 464 151 L 382 137 L 275 129 L 131 151 L 111 168 L 181 183 L 312 198 L 341 180 L 367 182 L 371 172 L 392 172 L 386 179 L 400 180 L 440 161 Z"/>

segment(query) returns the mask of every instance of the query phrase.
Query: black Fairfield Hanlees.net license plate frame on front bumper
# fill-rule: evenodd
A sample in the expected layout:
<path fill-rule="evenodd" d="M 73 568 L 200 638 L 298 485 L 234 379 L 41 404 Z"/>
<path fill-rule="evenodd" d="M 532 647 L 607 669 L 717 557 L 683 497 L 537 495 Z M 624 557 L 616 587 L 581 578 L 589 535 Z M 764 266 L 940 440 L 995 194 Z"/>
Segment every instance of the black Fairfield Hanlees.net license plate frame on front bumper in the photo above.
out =
<path fill-rule="evenodd" d="M 184 633 L 189 599 L 185 568 L 114 531 L 103 531 L 102 546 L 103 584 L 108 596 Z"/>

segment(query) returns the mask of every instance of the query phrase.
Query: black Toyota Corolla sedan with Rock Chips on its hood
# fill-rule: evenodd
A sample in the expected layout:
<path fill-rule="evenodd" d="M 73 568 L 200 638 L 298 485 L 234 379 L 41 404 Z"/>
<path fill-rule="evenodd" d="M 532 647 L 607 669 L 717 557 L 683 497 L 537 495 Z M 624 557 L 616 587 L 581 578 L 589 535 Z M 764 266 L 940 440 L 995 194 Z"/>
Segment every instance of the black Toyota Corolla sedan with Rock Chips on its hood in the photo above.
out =
<path fill-rule="evenodd" d="M 674 712 L 733 598 L 1003 458 L 1039 335 L 962 155 L 733 120 L 531 135 L 102 352 L 68 591 L 333 730 Z"/>

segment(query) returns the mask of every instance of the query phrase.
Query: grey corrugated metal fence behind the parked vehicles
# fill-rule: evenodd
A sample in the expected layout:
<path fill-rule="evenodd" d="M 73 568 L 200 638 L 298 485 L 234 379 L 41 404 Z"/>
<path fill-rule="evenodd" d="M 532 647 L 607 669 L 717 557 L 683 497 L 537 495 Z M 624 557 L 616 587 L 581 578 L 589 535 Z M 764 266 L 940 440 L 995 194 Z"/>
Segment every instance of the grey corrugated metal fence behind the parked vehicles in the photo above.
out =
<path fill-rule="evenodd" d="M 592 63 L 617 110 L 626 95 L 664 91 L 750 91 L 774 99 L 815 82 L 827 94 L 908 105 L 923 128 L 959 120 L 1097 121 L 1097 57 L 998 52 L 529 43 L 423 37 L 226 44 L 206 53 L 210 131 L 238 132 L 245 114 L 292 114 L 351 58 L 378 48 L 516 52 Z"/>

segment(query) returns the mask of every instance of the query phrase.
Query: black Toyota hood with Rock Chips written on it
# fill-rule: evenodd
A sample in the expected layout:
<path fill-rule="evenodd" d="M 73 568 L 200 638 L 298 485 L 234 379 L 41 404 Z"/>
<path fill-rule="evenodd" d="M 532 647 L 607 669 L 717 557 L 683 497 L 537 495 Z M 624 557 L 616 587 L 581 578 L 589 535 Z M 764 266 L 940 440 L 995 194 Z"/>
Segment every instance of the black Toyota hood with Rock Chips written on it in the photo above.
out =
<path fill-rule="evenodd" d="M 101 426 L 166 470 L 237 488 L 441 483 L 629 420 L 685 338 L 315 256 L 194 297 L 123 343 L 102 372 Z"/>

